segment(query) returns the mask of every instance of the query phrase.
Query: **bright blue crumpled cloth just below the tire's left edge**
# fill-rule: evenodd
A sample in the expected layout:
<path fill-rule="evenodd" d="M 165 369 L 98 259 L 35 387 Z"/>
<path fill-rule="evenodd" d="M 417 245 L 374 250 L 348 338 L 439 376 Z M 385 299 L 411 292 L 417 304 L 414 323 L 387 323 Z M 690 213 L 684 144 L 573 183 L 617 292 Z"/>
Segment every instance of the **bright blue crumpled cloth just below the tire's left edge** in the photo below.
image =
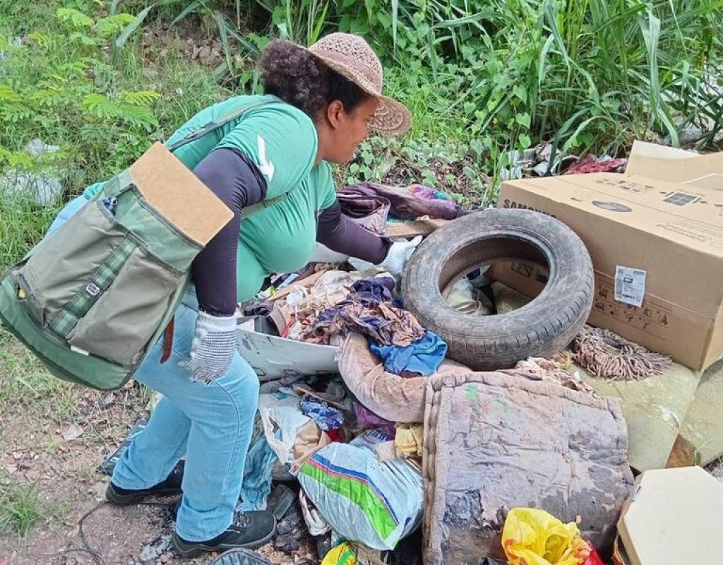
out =
<path fill-rule="evenodd" d="M 447 344 L 431 331 L 407 347 L 379 345 L 370 341 L 369 349 L 380 357 L 389 373 L 417 373 L 425 377 L 437 371 L 447 354 Z"/>

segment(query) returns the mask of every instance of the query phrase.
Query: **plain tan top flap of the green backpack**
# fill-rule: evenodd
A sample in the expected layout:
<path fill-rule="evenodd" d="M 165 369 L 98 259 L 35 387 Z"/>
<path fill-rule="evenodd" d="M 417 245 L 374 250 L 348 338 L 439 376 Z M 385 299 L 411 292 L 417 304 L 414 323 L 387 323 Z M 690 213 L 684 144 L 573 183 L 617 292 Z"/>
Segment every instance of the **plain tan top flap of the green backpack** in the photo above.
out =
<path fill-rule="evenodd" d="M 162 143 L 154 143 L 130 167 L 133 181 L 163 217 L 206 245 L 234 213 Z"/>

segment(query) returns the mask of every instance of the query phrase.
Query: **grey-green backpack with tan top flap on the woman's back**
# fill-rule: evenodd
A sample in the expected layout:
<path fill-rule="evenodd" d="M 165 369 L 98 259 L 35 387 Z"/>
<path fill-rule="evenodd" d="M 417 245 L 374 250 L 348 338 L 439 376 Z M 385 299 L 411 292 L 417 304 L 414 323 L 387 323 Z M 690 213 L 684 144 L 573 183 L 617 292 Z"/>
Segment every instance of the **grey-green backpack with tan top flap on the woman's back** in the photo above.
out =
<path fill-rule="evenodd" d="M 0 279 L 1 322 L 53 375 L 119 388 L 163 331 L 172 336 L 191 263 L 233 214 L 171 152 L 269 103 L 168 149 L 156 143 Z M 244 208 L 241 217 L 287 196 Z"/>

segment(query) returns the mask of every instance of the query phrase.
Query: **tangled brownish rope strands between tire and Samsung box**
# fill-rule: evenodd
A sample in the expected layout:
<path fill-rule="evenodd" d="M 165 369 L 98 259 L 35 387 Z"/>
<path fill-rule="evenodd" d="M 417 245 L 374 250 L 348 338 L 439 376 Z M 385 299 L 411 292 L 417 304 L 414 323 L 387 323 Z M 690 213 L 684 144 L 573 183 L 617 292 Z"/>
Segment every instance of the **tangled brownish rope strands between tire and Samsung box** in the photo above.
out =
<path fill-rule="evenodd" d="M 669 357 L 602 328 L 585 326 L 573 341 L 575 361 L 599 377 L 636 381 L 659 375 L 671 364 Z"/>

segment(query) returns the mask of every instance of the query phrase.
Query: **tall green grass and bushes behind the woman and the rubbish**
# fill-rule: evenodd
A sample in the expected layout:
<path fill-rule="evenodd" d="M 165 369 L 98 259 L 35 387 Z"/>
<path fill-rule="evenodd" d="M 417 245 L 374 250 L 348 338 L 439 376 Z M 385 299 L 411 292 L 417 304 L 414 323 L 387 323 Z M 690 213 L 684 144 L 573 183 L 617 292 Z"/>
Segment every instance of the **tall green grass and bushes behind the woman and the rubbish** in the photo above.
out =
<path fill-rule="evenodd" d="M 181 27 L 217 39 L 218 67 L 144 36 Z M 0 0 L 0 169 L 62 171 L 77 192 L 208 103 L 258 90 L 270 39 L 335 30 L 367 37 L 415 116 L 403 140 L 365 143 L 342 182 L 419 180 L 480 203 L 512 152 L 539 143 L 578 155 L 624 155 L 636 138 L 720 145 L 723 0 Z M 33 137 L 61 150 L 30 159 Z M 0 198 L 1 211 L 26 208 L 4 257 L 48 213 Z"/>

